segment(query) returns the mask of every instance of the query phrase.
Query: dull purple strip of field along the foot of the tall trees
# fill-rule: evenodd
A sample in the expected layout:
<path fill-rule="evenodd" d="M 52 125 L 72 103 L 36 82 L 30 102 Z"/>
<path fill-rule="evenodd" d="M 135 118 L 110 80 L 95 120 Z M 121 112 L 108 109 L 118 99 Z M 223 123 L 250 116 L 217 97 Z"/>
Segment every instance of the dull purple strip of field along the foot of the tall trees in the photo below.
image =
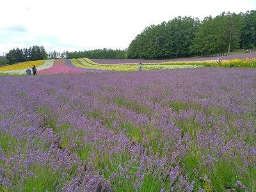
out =
<path fill-rule="evenodd" d="M 173 60 L 137 60 L 137 59 L 127 59 L 127 60 L 98 60 L 92 59 L 92 61 L 99 63 L 99 64 L 121 64 L 121 63 L 163 63 L 163 62 L 170 62 L 170 61 L 206 61 L 206 60 L 233 60 L 233 59 L 242 59 L 245 60 L 246 58 L 256 58 L 256 51 L 251 53 L 244 53 L 244 54 L 234 54 L 229 56 L 216 56 L 216 57 L 202 57 L 202 58 L 178 58 Z"/>

